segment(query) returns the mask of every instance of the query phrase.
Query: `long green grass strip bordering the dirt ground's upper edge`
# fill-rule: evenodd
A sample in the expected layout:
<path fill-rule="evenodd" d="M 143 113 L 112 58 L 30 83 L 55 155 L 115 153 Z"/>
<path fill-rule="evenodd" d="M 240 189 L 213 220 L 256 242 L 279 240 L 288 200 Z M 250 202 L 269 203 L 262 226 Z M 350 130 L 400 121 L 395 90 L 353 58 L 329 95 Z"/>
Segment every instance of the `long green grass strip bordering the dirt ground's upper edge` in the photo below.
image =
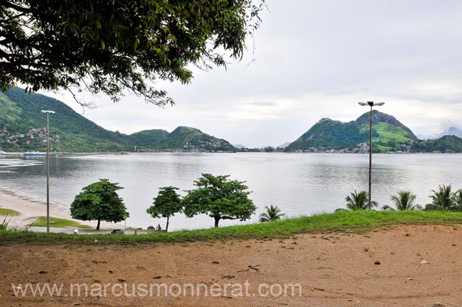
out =
<path fill-rule="evenodd" d="M 220 239 L 288 238 L 299 233 L 365 233 L 391 225 L 462 224 L 462 212 L 442 211 L 340 211 L 251 225 L 154 232 L 147 235 L 65 235 L 39 232 L 0 232 L 0 243 L 33 244 L 136 244 L 191 242 Z M 62 227 L 62 226 L 60 226 Z"/>

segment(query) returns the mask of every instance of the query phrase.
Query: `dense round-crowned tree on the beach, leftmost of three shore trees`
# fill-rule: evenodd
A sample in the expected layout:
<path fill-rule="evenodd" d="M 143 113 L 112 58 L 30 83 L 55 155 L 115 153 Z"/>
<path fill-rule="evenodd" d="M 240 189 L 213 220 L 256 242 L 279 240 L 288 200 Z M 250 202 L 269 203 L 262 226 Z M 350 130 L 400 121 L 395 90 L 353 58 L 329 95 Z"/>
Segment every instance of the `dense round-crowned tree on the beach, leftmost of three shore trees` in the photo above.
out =
<path fill-rule="evenodd" d="M 111 183 L 108 179 L 100 179 L 87 185 L 70 205 L 70 215 L 76 220 L 97 220 L 97 230 L 101 221 L 122 222 L 129 216 L 122 198 L 117 195 L 121 190 L 119 183 Z"/>

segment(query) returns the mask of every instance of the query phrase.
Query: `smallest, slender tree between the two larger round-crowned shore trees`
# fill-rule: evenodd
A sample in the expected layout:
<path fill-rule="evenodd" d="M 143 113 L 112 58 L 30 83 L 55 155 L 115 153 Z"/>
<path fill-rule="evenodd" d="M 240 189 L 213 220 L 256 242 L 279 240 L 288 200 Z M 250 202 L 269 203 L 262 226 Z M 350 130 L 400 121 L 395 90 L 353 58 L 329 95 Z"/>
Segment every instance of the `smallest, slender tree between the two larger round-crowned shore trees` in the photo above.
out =
<path fill-rule="evenodd" d="M 181 212 L 183 210 L 183 205 L 181 204 L 181 198 L 176 190 L 179 190 L 176 187 L 168 186 L 159 189 L 159 194 L 154 198 L 154 205 L 148 208 L 148 212 L 151 217 L 167 218 L 167 225 L 165 231 L 168 231 L 168 221 L 170 217 L 174 216 L 175 213 Z"/>

